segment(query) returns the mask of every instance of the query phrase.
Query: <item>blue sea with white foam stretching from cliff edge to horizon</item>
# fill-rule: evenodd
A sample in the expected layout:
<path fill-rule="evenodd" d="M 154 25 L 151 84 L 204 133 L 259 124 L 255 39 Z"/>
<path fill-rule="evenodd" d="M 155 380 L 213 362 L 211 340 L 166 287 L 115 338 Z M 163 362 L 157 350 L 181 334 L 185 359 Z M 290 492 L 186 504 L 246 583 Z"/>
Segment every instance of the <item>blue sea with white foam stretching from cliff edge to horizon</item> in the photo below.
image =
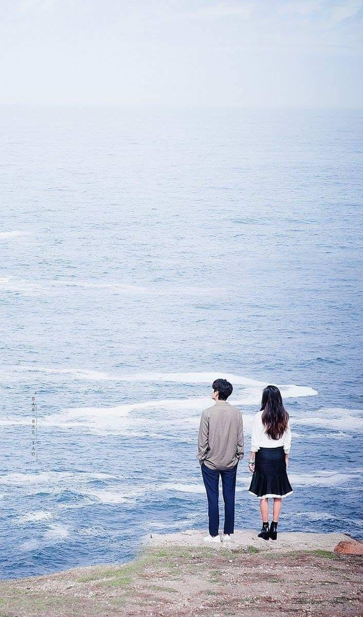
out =
<path fill-rule="evenodd" d="M 224 374 L 247 448 L 262 388 L 282 388 L 282 530 L 361 536 L 362 126 L 353 111 L 2 110 L 2 578 L 205 531 L 196 439 Z M 239 529 L 259 525 L 247 460 Z"/>

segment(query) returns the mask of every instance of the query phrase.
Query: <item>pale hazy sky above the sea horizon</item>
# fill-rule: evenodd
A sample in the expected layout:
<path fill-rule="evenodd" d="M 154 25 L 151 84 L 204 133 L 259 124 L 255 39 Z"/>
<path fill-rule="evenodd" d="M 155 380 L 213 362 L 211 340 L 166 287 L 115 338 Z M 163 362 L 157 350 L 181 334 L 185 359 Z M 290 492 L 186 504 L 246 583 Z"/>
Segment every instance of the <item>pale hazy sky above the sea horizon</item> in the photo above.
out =
<path fill-rule="evenodd" d="M 0 104 L 363 107 L 363 0 L 0 8 Z"/>

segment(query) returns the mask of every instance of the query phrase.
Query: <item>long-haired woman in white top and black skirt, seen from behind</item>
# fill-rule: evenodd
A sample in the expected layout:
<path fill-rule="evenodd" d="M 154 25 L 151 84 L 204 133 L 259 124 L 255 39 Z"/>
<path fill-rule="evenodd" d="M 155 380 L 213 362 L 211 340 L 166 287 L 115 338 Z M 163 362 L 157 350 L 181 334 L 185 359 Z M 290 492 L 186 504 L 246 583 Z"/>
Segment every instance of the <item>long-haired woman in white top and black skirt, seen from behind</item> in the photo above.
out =
<path fill-rule="evenodd" d="M 286 473 L 290 446 L 289 415 L 283 407 L 280 390 L 276 386 L 267 386 L 262 392 L 261 410 L 254 416 L 248 462 L 253 474 L 249 492 L 260 500 L 262 529 L 258 535 L 264 540 L 277 539 L 282 497 L 293 492 Z M 273 497 L 270 528 L 269 497 Z"/>

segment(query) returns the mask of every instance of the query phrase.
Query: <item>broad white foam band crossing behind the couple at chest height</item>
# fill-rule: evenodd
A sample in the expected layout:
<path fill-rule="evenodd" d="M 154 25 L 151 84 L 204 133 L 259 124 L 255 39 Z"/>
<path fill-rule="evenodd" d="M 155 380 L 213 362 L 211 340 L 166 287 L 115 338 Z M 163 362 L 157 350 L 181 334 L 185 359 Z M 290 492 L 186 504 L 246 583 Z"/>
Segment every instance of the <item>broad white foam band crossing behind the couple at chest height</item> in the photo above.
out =
<path fill-rule="evenodd" d="M 235 401 L 241 405 L 241 400 Z M 38 418 L 38 426 L 61 429 L 85 429 L 99 436 L 125 437 L 130 439 L 166 439 L 192 443 L 198 431 L 201 412 L 209 407 L 210 399 L 196 397 L 192 399 L 149 400 L 135 404 L 117 405 L 115 407 L 74 407 L 65 408 Z M 147 412 L 147 413 L 146 413 Z M 191 415 L 191 412 L 194 412 Z M 319 414 L 319 415 L 318 415 Z M 251 436 L 254 412 L 243 412 L 243 428 L 246 437 Z M 29 417 L 2 418 L 0 426 L 18 426 L 31 424 Z M 328 429 L 335 431 L 324 433 L 304 428 Z M 347 434 L 361 431 L 363 417 L 360 410 L 320 409 L 312 416 L 291 416 L 291 429 L 294 439 L 344 439 Z"/>

